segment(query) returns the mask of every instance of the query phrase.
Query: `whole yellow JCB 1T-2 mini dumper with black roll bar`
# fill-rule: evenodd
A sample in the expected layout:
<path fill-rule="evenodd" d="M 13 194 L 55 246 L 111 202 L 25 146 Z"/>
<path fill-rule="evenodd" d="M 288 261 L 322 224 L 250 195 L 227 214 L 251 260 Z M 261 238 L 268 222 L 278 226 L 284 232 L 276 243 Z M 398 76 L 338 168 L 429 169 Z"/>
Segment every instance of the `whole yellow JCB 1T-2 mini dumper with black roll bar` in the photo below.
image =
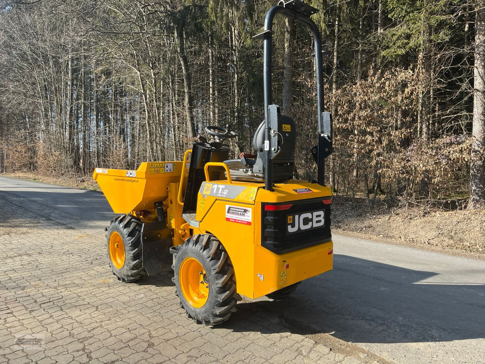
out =
<path fill-rule="evenodd" d="M 332 119 L 323 112 L 321 35 L 310 19 L 318 10 L 292 0 L 266 15 L 264 120 L 254 154 L 228 160 L 223 144 L 236 137 L 208 126 L 182 162 L 146 162 L 136 171 L 97 168 L 114 213 L 106 228 L 107 255 L 118 280 L 135 281 L 173 269 L 176 295 L 188 317 L 219 324 L 236 311 L 240 295 L 281 298 L 296 285 L 332 269 L 331 191 L 324 160 L 332 152 Z M 311 153 L 316 181 L 295 181 L 296 126 L 272 104 L 271 40 L 276 14 L 306 25 L 315 47 L 318 145 Z M 189 162 L 189 154 L 191 154 Z"/>

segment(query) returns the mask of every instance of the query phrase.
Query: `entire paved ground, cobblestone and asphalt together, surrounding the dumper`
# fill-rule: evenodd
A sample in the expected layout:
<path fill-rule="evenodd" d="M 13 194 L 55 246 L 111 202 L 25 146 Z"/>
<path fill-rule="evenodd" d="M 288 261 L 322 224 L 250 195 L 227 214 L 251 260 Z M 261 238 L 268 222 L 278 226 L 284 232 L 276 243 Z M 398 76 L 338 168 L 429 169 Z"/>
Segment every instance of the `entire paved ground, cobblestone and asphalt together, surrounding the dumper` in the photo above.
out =
<path fill-rule="evenodd" d="M 332 272 L 285 301 L 244 300 L 230 322 L 204 328 L 181 315 L 169 275 L 113 280 L 102 248 L 110 211 L 96 192 L 0 177 L 0 243 L 12 247 L 0 267 L 0 363 L 4 353 L 29 362 L 8 335 L 35 328 L 46 363 L 485 363 L 485 262 L 334 235 Z"/>

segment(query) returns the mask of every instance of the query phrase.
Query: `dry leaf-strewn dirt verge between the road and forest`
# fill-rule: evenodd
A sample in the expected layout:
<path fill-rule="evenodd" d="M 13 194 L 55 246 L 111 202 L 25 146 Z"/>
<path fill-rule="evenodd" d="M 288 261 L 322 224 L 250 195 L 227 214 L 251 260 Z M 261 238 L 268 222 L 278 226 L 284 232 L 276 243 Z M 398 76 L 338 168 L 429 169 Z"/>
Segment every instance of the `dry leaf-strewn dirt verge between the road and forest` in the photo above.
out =
<path fill-rule="evenodd" d="M 6 176 L 99 191 L 91 176 L 57 177 L 33 172 L 16 172 Z M 334 198 L 332 230 L 485 260 L 485 210 L 388 208 L 384 203 L 378 203 L 370 210 L 364 199 L 356 199 L 356 203 L 351 204 L 345 199 Z"/>

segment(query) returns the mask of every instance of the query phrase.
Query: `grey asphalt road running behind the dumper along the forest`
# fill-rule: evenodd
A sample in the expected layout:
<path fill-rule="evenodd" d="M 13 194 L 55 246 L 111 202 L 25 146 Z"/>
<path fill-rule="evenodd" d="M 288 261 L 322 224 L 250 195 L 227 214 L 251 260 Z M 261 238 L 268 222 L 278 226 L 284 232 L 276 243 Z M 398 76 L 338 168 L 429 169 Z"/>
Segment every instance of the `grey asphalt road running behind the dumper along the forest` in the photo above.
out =
<path fill-rule="evenodd" d="M 74 229 L 104 235 L 97 192 L 0 177 L 0 196 Z M 276 312 L 299 334 L 329 333 L 395 363 L 485 363 L 485 262 L 334 235 L 334 270 Z"/>

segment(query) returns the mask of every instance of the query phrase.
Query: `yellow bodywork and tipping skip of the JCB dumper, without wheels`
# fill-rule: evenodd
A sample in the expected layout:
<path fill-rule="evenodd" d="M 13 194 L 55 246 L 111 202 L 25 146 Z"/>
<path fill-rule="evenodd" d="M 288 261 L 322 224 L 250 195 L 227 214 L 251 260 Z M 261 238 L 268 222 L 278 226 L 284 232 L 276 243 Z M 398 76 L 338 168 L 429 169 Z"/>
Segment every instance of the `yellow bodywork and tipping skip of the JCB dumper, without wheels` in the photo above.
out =
<path fill-rule="evenodd" d="M 275 253 L 262 245 L 262 230 L 267 227 L 263 221 L 264 213 L 273 212 L 266 211 L 265 205 L 297 206 L 311 197 L 312 210 L 329 211 L 331 191 L 328 187 L 308 181 L 289 181 L 276 183 L 274 191 L 267 191 L 263 183 L 203 182 L 198 192 L 194 218 L 197 223 L 194 226 L 182 217 L 183 201 L 178 200 L 179 192 L 182 192 L 179 186 L 185 185 L 188 165 L 183 161 L 147 162 L 136 171 L 97 168 L 93 178 L 117 214 L 154 221 L 158 216 L 154 203 L 162 201 L 166 225 L 173 230 L 173 246 L 183 244 L 196 234 L 216 236 L 232 262 L 237 292 L 246 297 L 268 295 L 332 269 L 333 243 L 330 237 L 319 244 L 310 243 L 306 248 L 299 247 L 287 253 Z M 237 215 L 237 208 L 243 210 L 242 214 Z M 236 215 L 231 215 L 231 211 Z M 296 213 L 285 216 L 284 225 L 294 225 L 291 221 L 295 216 L 300 218 Z M 313 219 L 313 215 L 307 216 L 302 219 L 306 225 Z"/>

